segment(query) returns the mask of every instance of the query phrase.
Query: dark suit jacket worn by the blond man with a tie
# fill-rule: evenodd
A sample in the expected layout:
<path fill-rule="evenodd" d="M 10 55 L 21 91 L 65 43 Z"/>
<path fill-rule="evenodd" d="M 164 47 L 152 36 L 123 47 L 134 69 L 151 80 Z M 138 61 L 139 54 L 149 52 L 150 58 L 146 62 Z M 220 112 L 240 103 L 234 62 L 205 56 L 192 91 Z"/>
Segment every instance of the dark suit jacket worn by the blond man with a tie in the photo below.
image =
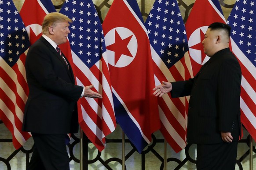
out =
<path fill-rule="evenodd" d="M 22 130 L 41 134 L 77 133 L 77 100 L 83 87 L 75 85 L 70 64 L 68 69 L 54 47 L 40 37 L 29 48 L 25 68 L 29 96 Z"/>

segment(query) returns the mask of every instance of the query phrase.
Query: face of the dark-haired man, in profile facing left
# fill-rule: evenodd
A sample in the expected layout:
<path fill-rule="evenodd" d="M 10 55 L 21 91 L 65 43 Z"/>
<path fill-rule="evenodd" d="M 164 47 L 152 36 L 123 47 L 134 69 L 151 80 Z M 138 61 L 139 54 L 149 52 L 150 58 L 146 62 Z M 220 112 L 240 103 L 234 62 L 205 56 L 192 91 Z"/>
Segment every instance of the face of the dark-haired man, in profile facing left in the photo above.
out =
<path fill-rule="evenodd" d="M 217 42 L 217 34 L 216 31 L 211 31 L 211 29 L 207 29 L 205 32 L 205 39 L 202 41 L 203 47 L 204 47 L 204 53 L 211 57 L 215 52 L 215 45 Z"/>

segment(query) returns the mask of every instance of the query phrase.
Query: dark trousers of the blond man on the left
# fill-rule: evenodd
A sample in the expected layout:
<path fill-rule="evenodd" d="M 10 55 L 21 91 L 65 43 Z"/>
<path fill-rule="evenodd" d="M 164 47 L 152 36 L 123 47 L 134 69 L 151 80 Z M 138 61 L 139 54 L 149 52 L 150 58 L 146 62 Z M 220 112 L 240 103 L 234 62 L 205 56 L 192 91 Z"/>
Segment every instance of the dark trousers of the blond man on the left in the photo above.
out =
<path fill-rule="evenodd" d="M 32 133 L 33 154 L 27 170 L 69 170 L 66 135 Z"/>

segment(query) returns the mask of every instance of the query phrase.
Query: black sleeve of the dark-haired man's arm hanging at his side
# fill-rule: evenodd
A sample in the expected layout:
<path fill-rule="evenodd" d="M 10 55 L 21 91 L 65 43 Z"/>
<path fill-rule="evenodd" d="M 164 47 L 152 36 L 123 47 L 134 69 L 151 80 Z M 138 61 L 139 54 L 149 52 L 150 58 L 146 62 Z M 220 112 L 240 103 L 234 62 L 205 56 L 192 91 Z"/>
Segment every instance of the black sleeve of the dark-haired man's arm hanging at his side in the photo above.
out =
<path fill-rule="evenodd" d="M 219 130 L 231 132 L 240 116 L 241 69 L 238 61 L 232 58 L 225 60 L 218 77 Z"/>

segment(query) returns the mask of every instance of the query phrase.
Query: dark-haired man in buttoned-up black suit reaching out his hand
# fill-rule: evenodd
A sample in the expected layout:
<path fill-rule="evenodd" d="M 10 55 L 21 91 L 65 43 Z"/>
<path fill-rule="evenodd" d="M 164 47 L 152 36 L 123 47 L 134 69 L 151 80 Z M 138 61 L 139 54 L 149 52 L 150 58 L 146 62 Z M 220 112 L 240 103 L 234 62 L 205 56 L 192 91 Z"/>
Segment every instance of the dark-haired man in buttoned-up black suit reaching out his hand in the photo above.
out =
<path fill-rule="evenodd" d="M 187 142 L 197 144 L 198 170 L 234 170 L 241 136 L 241 68 L 230 52 L 230 26 L 209 25 L 202 44 L 210 59 L 194 78 L 165 82 L 154 95 L 189 96 Z"/>

